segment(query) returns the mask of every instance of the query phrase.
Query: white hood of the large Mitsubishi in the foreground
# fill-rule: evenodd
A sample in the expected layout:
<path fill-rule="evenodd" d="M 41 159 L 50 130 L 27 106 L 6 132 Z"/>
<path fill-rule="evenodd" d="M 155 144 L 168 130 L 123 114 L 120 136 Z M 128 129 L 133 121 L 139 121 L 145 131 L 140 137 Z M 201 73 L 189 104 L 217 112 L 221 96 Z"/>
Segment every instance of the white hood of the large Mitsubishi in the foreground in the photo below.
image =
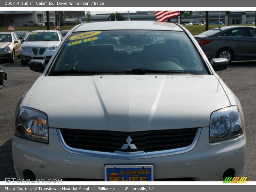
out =
<path fill-rule="evenodd" d="M 230 106 L 213 75 L 44 76 L 28 107 L 49 127 L 145 131 L 209 126 Z"/>

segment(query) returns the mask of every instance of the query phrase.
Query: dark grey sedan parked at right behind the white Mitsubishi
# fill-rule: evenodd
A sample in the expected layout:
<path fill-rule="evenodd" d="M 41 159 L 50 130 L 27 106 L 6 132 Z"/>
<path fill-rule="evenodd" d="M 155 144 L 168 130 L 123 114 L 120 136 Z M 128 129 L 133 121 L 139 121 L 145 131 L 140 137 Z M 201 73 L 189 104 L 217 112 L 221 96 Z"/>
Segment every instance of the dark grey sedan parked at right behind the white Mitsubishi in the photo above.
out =
<path fill-rule="evenodd" d="M 251 26 L 226 26 L 214 28 L 194 36 L 208 59 L 256 59 L 256 28 Z"/>

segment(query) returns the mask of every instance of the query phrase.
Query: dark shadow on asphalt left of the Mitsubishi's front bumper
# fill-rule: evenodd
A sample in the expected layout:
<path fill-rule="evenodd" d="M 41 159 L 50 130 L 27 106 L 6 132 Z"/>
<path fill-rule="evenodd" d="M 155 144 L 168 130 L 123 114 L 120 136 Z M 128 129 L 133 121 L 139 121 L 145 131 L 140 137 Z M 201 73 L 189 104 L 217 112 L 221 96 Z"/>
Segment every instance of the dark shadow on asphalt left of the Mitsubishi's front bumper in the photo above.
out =
<path fill-rule="evenodd" d="M 0 181 L 6 177 L 16 177 L 12 161 L 12 139 L 9 139 L 0 146 Z"/>

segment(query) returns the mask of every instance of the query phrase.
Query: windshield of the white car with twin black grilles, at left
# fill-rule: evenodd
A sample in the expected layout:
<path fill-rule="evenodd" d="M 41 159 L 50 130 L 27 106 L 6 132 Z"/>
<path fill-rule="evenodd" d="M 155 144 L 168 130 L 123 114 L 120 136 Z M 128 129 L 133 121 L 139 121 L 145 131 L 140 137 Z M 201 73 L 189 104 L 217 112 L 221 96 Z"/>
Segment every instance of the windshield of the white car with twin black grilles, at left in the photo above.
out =
<path fill-rule="evenodd" d="M 57 32 L 31 32 L 26 41 L 60 41 Z"/>

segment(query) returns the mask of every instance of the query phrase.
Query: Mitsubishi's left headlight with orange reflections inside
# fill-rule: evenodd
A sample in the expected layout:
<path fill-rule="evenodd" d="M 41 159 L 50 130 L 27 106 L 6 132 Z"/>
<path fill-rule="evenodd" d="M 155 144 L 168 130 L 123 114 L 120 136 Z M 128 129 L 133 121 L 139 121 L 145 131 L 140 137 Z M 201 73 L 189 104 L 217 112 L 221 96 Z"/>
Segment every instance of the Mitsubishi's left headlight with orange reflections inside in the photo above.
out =
<path fill-rule="evenodd" d="M 15 119 L 15 135 L 24 139 L 49 143 L 47 115 L 36 109 L 21 107 Z"/>

